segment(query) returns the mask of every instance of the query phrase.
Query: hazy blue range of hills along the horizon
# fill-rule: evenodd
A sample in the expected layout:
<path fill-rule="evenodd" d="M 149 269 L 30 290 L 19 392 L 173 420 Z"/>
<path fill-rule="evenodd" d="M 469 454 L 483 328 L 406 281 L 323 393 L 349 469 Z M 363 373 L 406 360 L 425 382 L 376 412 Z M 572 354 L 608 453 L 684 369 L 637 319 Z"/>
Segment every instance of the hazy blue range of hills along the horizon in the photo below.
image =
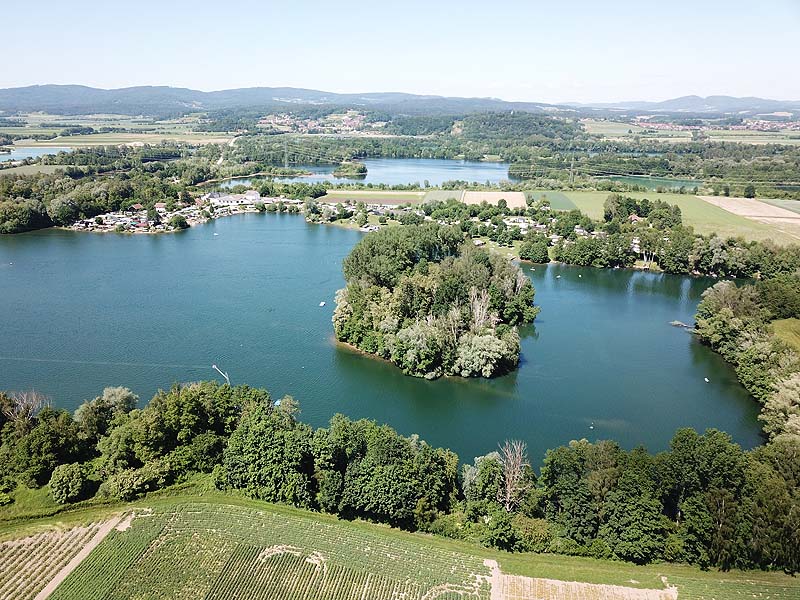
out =
<path fill-rule="evenodd" d="M 731 96 L 684 96 L 663 102 L 616 102 L 563 105 L 507 102 L 498 98 L 459 98 L 400 92 L 339 94 L 290 87 L 253 87 L 213 92 L 167 86 L 99 89 L 82 85 L 36 85 L 0 89 L 0 111 L 46 111 L 59 114 L 116 113 L 176 116 L 194 111 L 258 109 L 292 106 L 342 106 L 385 110 L 397 114 L 463 114 L 521 110 L 526 112 L 613 115 L 679 113 L 741 115 L 787 112 L 800 115 L 800 101 Z"/>

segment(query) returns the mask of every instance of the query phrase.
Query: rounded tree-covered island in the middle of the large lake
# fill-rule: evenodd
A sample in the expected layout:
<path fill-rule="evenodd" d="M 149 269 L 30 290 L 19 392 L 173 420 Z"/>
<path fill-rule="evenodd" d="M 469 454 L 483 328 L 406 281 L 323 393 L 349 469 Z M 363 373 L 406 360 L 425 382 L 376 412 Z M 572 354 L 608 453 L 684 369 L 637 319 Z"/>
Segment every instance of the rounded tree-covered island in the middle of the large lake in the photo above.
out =
<path fill-rule="evenodd" d="M 344 260 L 336 339 L 407 375 L 492 377 L 519 363 L 517 325 L 539 312 L 520 268 L 476 248 L 457 227 L 389 227 Z"/>

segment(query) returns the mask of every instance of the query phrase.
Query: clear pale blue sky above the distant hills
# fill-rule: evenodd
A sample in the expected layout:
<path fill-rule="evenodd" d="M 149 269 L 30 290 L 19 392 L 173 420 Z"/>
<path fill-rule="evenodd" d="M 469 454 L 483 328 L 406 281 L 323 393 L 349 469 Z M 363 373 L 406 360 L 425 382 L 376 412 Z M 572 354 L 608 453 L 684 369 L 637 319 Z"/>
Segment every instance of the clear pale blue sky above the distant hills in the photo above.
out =
<path fill-rule="evenodd" d="M 800 99 L 800 0 L 3 0 L 0 87 Z"/>

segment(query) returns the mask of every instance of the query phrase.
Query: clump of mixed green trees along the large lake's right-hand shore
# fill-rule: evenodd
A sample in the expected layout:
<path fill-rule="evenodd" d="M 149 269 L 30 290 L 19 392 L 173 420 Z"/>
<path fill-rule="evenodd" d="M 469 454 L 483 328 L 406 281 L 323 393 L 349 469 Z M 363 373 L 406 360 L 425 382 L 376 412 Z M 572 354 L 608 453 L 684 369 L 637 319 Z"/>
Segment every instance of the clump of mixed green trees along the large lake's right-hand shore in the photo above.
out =
<path fill-rule="evenodd" d="M 752 285 L 721 281 L 703 293 L 696 318 L 700 340 L 734 365 L 762 405 L 764 432 L 800 438 L 800 354 L 771 328 L 775 320 L 800 318 L 800 271 Z"/>

